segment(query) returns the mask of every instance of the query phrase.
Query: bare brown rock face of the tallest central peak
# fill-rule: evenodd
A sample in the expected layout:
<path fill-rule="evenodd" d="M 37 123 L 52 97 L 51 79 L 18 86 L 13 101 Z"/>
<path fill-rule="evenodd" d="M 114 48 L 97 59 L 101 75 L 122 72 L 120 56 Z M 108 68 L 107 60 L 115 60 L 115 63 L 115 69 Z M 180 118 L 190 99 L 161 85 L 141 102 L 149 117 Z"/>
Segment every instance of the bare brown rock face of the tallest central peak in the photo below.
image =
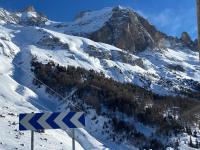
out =
<path fill-rule="evenodd" d="M 90 35 L 92 40 L 137 52 L 155 46 L 166 36 L 131 9 L 115 7 L 112 11 L 109 21 Z"/>

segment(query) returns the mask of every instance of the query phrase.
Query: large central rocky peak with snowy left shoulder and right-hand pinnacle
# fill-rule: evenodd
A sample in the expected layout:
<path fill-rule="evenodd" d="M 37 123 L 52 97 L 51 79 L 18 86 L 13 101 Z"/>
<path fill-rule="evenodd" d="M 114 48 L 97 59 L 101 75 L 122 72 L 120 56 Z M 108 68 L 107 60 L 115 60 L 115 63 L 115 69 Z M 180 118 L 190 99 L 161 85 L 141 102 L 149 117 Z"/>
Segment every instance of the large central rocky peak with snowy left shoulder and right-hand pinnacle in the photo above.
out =
<path fill-rule="evenodd" d="M 132 8 L 122 6 L 83 12 L 68 25 L 65 33 L 114 45 L 132 53 L 147 48 L 160 48 L 159 45 L 175 46 L 176 43 L 196 49 L 195 42 L 186 32 L 180 39 L 168 36 Z"/>

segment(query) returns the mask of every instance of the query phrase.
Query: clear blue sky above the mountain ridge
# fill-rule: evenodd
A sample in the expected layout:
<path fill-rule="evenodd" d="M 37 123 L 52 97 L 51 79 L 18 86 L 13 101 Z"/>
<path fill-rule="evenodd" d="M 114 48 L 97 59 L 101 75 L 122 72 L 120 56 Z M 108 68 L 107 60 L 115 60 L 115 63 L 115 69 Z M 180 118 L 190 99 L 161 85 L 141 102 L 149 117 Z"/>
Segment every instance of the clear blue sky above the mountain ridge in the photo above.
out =
<path fill-rule="evenodd" d="M 159 30 L 180 36 L 183 31 L 196 38 L 195 0 L 0 0 L 0 7 L 11 11 L 33 5 L 55 21 L 71 21 L 85 10 L 122 5 L 132 7 Z"/>

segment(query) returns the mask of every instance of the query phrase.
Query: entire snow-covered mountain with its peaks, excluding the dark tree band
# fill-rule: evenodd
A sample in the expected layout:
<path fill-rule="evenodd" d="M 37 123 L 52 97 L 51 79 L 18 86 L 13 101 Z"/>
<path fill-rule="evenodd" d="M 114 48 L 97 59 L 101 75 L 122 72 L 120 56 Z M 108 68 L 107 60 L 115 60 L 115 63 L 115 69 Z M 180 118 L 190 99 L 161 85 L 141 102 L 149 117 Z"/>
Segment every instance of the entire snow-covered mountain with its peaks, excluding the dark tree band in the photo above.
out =
<path fill-rule="evenodd" d="M 194 42 L 186 44 L 185 38 L 181 40 L 159 32 L 130 9 L 105 8 L 82 13 L 71 23 L 58 23 L 32 7 L 16 13 L 1 8 L 0 31 L 0 119 L 3 122 L 0 128 L 6 129 L 0 134 L 1 149 L 29 147 L 29 135 L 17 130 L 19 112 L 68 107 L 60 98 L 46 93 L 45 87 L 33 84 L 33 59 L 41 64 L 54 62 L 66 68 L 94 70 L 106 78 L 131 83 L 162 96 L 200 99 L 200 65 Z M 103 122 L 109 118 L 96 113 L 88 109 L 88 127 L 77 130 L 79 149 L 136 149 L 127 141 L 117 143 L 102 135 Z M 94 117 L 97 119 L 93 120 Z M 153 128 L 134 124 L 147 137 L 154 133 Z M 68 134 L 64 131 L 38 133 L 36 142 L 42 144 L 37 149 L 70 149 Z M 189 137 L 181 139 L 184 140 L 180 147 L 187 147 Z"/>

